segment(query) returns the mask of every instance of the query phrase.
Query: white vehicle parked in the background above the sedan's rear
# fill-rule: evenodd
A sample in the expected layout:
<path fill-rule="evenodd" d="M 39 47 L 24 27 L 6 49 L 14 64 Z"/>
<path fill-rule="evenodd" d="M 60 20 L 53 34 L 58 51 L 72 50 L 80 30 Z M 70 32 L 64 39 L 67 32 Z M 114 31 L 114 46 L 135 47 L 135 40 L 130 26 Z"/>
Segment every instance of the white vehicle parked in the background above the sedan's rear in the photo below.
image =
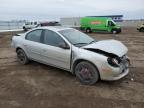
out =
<path fill-rule="evenodd" d="M 32 29 L 32 28 L 35 28 L 39 25 L 39 22 L 26 22 L 24 25 L 23 25 L 23 30 L 24 31 L 27 31 L 29 29 Z"/>

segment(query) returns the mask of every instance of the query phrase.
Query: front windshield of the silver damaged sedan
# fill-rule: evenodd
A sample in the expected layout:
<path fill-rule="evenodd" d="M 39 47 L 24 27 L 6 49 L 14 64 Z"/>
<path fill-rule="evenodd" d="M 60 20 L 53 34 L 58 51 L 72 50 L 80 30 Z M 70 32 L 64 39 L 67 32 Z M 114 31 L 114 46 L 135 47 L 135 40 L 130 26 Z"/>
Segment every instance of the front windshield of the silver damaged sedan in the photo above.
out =
<path fill-rule="evenodd" d="M 70 43 L 78 47 L 95 42 L 95 40 L 90 36 L 75 29 L 61 30 L 59 33 L 62 34 Z"/>

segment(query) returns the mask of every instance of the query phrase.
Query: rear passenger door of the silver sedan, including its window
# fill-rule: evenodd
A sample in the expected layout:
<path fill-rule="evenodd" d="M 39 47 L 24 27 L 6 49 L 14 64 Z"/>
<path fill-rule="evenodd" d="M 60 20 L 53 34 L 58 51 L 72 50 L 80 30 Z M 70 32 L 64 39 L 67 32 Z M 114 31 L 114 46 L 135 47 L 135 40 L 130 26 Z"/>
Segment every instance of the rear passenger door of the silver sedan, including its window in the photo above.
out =
<path fill-rule="evenodd" d="M 38 61 L 41 61 L 42 33 L 43 30 L 41 29 L 33 30 L 26 35 L 25 41 L 23 42 L 24 48 L 27 52 L 27 56 Z"/>

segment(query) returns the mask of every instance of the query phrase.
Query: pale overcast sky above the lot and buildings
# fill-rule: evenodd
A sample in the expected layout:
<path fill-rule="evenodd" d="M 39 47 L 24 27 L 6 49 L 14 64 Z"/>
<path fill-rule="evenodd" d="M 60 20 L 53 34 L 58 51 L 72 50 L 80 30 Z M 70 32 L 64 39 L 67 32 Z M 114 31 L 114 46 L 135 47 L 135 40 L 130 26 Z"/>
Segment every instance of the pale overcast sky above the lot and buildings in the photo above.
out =
<path fill-rule="evenodd" d="M 144 19 L 144 0 L 0 0 L 0 20 L 124 15 Z"/>

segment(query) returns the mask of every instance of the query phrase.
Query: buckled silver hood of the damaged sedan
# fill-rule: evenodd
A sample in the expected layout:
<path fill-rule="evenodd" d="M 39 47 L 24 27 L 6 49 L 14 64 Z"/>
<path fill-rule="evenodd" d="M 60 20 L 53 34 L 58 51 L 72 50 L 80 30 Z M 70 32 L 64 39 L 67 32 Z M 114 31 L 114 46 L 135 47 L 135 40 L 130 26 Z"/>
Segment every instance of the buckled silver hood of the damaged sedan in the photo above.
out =
<path fill-rule="evenodd" d="M 83 48 L 99 49 L 108 53 L 115 54 L 119 57 L 122 57 L 128 52 L 127 47 L 117 40 L 98 41 L 93 44 L 84 46 Z"/>

